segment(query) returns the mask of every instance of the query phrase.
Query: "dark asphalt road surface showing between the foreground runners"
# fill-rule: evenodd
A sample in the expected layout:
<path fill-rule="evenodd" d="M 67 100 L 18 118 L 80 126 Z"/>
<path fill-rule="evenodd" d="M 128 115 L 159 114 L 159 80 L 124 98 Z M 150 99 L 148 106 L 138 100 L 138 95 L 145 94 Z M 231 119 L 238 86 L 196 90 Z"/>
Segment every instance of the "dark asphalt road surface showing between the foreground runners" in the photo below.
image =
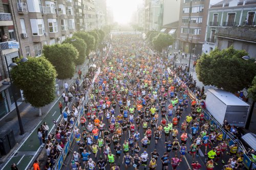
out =
<path fill-rule="evenodd" d="M 169 104 L 169 102 L 167 102 L 166 103 L 166 108 L 167 108 L 167 106 L 168 106 L 168 104 Z M 167 109 L 166 109 L 167 110 Z M 188 115 L 188 113 L 190 113 L 190 103 L 189 103 L 189 106 L 188 106 L 188 109 L 187 110 L 184 110 L 183 111 L 183 113 L 182 113 L 182 117 L 180 118 L 180 124 L 179 125 L 181 125 L 181 123 L 183 122 L 183 120 L 185 119 L 185 116 L 186 115 Z M 116 109 L 115 109 L 115 116 L 117 116 L 119 114 L 119 106 L 117 105 L 116 106 Z M 160 121 L 161 121 L 161 113 L 160 113 L 160 111 L 159 111 L 159 120 L 158 120 L 158 125 L 159 125 L 159 123 L 160 123 Z M 137 111 L 136 111 L 136 113 L 135 113 L 135 115 L 137 116 L 138 115 L 138 113 L 137 113 Z M 135 116 L 135 117 L 136 117 Z M 106 127 L 109 127 L 109 124 L 106 122 L 106 118 L 104 117 L 104 122 L 103 122 L 105 125 L 106 125 Z M 86 124 L 87 125 L 87 124 Z M 135 130 L 137 129 L 137 127 L 135 128 Z M 81 130 L 81 127 L 80 127 L 80 130 Z M 180 126 L 179 126 L 179 128 L 178 128 L 178 130 L 179 130 L 179 134 L 178 134 L 178 139 L 179 139 L 179 142 L 181 141 L 180 140 L 180 130 L 181 130 L 181 128 L 180 128 Z M 82 132 L 82 131 L 81 131 Z M 191 134 L 190 134 L 190 130 L 188 130 L 187 131 L 188 132 L 188 139 L 187 139 L 187 144 L 186 144 L 186 147 L 187 147 L 187 151 L 189 151 L 189 146 L 192 144 L 192 142 L 190 141 L 190 139 L 191 139 Z M 140 133 L 140 140 L 143 138 L 143 128 L 142 128 L 142 125 L 140 125 L 140 129 L 139 129 L 139 133 Z M 152 134 L 154 133 L 154 130 L 152 130 Z M 200 131 L 199 131 L 199 133 L 200 133 Z M 112 137 L 112 135 L 111 135 L 111 137 Z M 125 136 L 126 138 L 129 138 L 129 136 L 128 136 L 128 134 Z M 125 138 L 124 136 L 122 136 L 121 137 L 121 146 L 122 146 L 122 144 L 123 144 L 123 140 L 124 140 L 124 138 Z M 172 139 L 173 137 L 172 137 L 172 135 L 170 135 L 170 139 L 173 141 L 173 139 Z M 140 141 L 139 140 L 139 141 Z M 96 142 L 96 140 L 94 140 L 94 142 Z M 160 158 L 163 156 L 163 154 L 164 154 L 164 152 L 166 152 L 166 149 L 164 148 L 165 147 L 165 144 L 164 144 L 164 142 L 165 142 L 165 137 L 164 137 L 164 134 L 162 135 L 162 138 L 161 139 L 159 139 L 159 141 L 158 141 L 158 144 L 157 144 L 157 146 L 155 147 L 155 140 L 154 140 L 154 137 L 153 137 L 153 135 L 152 135 L 152 139 L 151 139 L 151 143 L 150 143 L 150 145 L 148 145 L 148 147 L 147 147 L 147 149 L 146 149 L 146 151 L 147 151 L 147 153 L 148 153 L 148 156 L 149 156 L 149 159 L 148 159 L 148 161 L 147 161 L 147 163 L 149 163 L 150 162 L 150 160 L 151 160 L 151 152 L 153 152 L 154 151 L 154 149 L 157 149 L 157 152 L 159 153 L 159 158 L 158 158 L 158 160 L 157 160 L 157 169 L 161 169 L 162 168 L 162 163 L 161 163 L 161 160 L 160 160 Z M 141 147 L 141 142 L 139 142 L 139 146 L 140 146 L 140 148 L 141 148 L 141 151 L 140 151 L 140 154 L 142 154 L 143 153 L 143 151 L 144 151 L 144 149 Z M 214 145 L 215 147 L 216 147 L 216 144 Z M 114 154 L 115 155 L 115 151 L 114 151 L 114 145 L 113 145 L 113 142 L 111 141 L 111 146 L 110 146 L 110 148 L 111 148 L 111 151 L 112 151 L 112 154 Z M 202 153 L 202 151 L 203 151 L 203 153 Z M 201 150 L 199 151 L 199 157 L 196 157 L 196 161 L 199 161 L 199 163 L 202 165 L 202 168 L 201 169 L 206 169 L 206 167 L 205 167 L 205 162 L 204 162 L 204 160 L 205 160 L 205 158 L 207 158 L 207 156 L 204 156 L 204 146 L 203 147 L 201 147 Z M 70 152 L 69 152 L 69 155 L 67 156 L 67 158 L 66 158 L 66 160 L 65 160 L 65 165 L 66 166 L 62 166 L 62 169 L 70 169 L 70 163 L 71 163 L 71 159 L 72 159 L 72 153 L 73 153 L 73 151 L 78 151 L 78 145 L 77 145 L 77 143 L 75 143 L 75 142 L 73 142 L 73 147 L 72 147 L 72 149 L 70 150 Z M 87 149 L 87 151 L 88 151 L 88 149 Z M 207 152 L 209 151 L 209 149 L 207 149 Z M 90 152 L 92 152 L 92 151 L 90 151 Z M 129 151 L 129 153 L 130 153 L 130 155 L 131 155 L 131 151 Z M 140 156 L 140 154 L 139 154 L 139 156 Z M 97 160 L 99 160 L 99 157 L 100 157 L 100 155 L 102 155 L 102 157 L 104 158 L 104 154 L 103 154 L 103 151 L 101 151 L 101 154 L 99 154 L 99 151 L 98 151 L 98 154 L 97 154 Z M 177 155 L 178 156 L 180 156 L 180 154 L 179 154 L 179 151 L 178 151 L 178 153 L 177 153 Z M 121 164 L 120 164 L 120 168 L 121 169 L 124 169 L 125 168 L 125 166 L 124 166 L 124 164 L 122 164 L 122 157 L 124 156 L 124 154 L 121 152 Z M 134 155 L 132 155 L 132 156 L 134 156 Z M 170 152 L 170 154 L 169 154 L 169 159 L 170 159 L 170 157 L 171 158 L 173 158 L 175 156 L 175 153 L 173 153 L 172 151 Z M 93 156 L 93 154 L 91 154 L 90 155 L 90 158 L 92 158 L 93 159 L 93 161 L 95 161 L 95 163 L 97 163 L 97 160 L 95 160 L 94 159 L 94 156 Z M 229 156 L 226 156 L 226 155 L 224 155 L 224 161 L 225 162 L 227 162 L 228 161 L 228 159 L 229 159 Z M 192 156 L 190 156 L 188 153 L 185 155 L 185 158 L 182 160 L 182 162 L 180 163 L 180 165 L 177 167 L 177 169 L 183 169 L 183 170 L 185 170 L 185 169 L 188 169 L 188 168 L 191 168 L 192 169 L 192 167 L 191 167 L 191 163 L 192 163 Z M 115 163 L 117 163 L 117 161 L 115 161 Z M 224 164 L 222 164 L 221 163 L 221 161 L 219 160 L 218 161 L 218 165 L 215 165 L 215 168 L 214 169 L 222 169 L 222 167 L 223 167 L 223 165 Z M 168 169 L 172 169 L 171 168 L 171 164 L 169 164 L 169 166 L 168 166 Z M 148 168 L 148 167 L 147 167 Z M 82 169 L 86 169 L 84 166 L 82 166 Z M 106 166 L 106 169 L 110 169 L 109 168 L 109 165 L 107 165 Z M 134 169 L 134 167 L 131 165 L 131 167 L 129 167 L 128 169 Z M 143 169 L 143 167 L 142 167 L 142 165 L 140 165 L 140 169 Z"/>

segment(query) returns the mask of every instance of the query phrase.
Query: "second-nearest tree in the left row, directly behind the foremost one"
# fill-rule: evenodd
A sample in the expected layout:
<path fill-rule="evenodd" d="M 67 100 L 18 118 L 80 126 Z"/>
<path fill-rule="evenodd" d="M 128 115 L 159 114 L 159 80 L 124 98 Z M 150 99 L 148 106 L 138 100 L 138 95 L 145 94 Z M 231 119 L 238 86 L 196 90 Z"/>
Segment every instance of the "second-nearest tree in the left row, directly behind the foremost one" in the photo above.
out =
<path fill-rule="evenodd" d="M 72 78 L 78 51 L 70 43 L 45 45 L 42 54 L 54 65 L 60 80 Z"/>

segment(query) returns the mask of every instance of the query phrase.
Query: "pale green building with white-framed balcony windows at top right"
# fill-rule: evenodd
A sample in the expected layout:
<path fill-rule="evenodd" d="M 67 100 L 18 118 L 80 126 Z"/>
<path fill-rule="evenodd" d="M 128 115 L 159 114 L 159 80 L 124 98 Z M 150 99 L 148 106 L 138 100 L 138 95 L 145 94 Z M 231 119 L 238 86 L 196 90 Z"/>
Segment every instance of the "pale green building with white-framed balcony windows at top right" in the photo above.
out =
<path fill-rule="evenodd" d="M 244 25 L 254 26 L 256 21 L 255 12 L 256 12 L 256 1 L 251 1 L 251 0 L 250 1 L 225 0 L 225 1 L 219 2 L 218 4 L 211 5 L 209 7 L 209 12 L 208 12 L 207 28 L 206 28 L 203 52 L 209 53 L 210 51 L 214 50 L 214 48 L 218 46 L 220 47 L 220 49 L 222 48 L 223 45 L 218 44 L 216 41 L 217 40 L 216 35 L 219 33 L 220 30 L 221 32 L 225 32 L 225 29 L 237 30 L 237 29 L 231 29 L 237 26 L 244 26 Z M 240 32 L 237 31 L 233 33 L 235 33 L 236 35 L 238 33 L 239 35 L 243 34 L 241 31 Z M 218 39 L 219 39 L 218 42 L 221 43 L 222 42 L 221 37 L 218 37 Z M 233 40 L 230 39 L 230 44 L 233 44 L 232 42 Z M 236 46 L 238 47 L 238 49 L 244 49 L 244 50 L 249 49 L 249 47 L 247 47 L 246 45 L 244 47 L 242 47 L 242 45 L 243 43 L 240 43 L 241 47 L 238 47 L 237 45 Z"/>

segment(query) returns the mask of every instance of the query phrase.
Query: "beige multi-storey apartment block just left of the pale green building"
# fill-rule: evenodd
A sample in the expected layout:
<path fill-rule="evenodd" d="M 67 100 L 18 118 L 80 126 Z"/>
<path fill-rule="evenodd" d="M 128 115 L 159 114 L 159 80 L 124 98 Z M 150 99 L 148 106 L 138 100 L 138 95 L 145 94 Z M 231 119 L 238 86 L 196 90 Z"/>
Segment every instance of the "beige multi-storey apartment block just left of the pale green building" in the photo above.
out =
<path fill-rule="evenodd" d="M 189 53 L 194 49 L 191 53 L 202 53 L 208 8 L 208 0 L 181 0 L 177 38 L 181 51 Z"/>

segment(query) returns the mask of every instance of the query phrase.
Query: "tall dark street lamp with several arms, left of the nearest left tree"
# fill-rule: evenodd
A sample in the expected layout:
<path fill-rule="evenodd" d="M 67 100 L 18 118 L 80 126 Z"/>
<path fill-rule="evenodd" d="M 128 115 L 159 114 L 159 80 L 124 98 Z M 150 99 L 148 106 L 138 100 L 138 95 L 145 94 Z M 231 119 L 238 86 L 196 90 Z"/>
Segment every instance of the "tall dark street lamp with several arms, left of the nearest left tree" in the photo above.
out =
<path fill-rule="evenodd" d="M 28 60 L 27 58 L 23 58 L 23 59 L 21 59 L 19 62 L 26 62 L 27 60 Z M 16 63 L 11 63 L 11 64 L 8 66 L 8 62 L 7 62 L 6 55 L 5 55 L 5 62 L 6 62 L 6 66 L 7 66 L 7 70 L 8 70 L 8 75 L 9 75 L 10 82 L 4 81 L 2 84 L 3 84 L 3 85 L 11 85 L 12 95 L 13 95 L 13 99 L 14 99 L 14 103 L 15 103 L 15 108 L 16 108 L 16 112 L 17 112 L 17 116 L 18 116 L 18 124 L 19 124 L 20 135 L 23 135 L 23 134 L 24 134 L 24 128 L 23 128 L 23 125 L 22 125 L 22 118 L 20 118 L 20 114 L 19 114 L 19 110 L 18 110 L 18 105 L 17 105 L 17 99 L 16 99 L 16 96 L 15 96 L 15 94 L 14 94 L 14 89 L 13 89 L 13 84 L 12 84 L 12 78 L 11 78 L 11 74 L 10 74 L 10 70 L 9 70 L 9 67 L 15 67 L 15 66 L 17 66 L 18 64 L 16 64 Z"/>

